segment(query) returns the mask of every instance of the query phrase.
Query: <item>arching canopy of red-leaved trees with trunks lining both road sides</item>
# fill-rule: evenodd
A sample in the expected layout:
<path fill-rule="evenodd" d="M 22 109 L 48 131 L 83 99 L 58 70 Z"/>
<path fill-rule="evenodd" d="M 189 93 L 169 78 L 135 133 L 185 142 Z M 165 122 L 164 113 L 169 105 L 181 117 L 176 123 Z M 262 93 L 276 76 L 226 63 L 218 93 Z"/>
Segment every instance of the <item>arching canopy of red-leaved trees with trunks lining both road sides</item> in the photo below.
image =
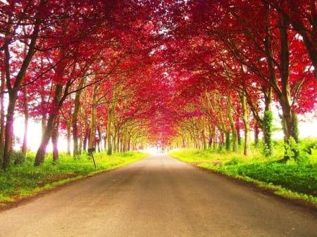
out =
<path fill-rule="evenodd" d="M 317 6 L 302 0 L 0 1 L 0 161 L 15 115 L 42 122 L 74 157 L 147 144 L 237 152 L 250 132 L 271 153 L 271 107 L 285 143 L 316 110 Z M 230 139 L 231 138 L 231 139 Z M 229 141 L 232 143 L 229 143 Z M 22 152 L 26 153 L 27 138 Z"/>

